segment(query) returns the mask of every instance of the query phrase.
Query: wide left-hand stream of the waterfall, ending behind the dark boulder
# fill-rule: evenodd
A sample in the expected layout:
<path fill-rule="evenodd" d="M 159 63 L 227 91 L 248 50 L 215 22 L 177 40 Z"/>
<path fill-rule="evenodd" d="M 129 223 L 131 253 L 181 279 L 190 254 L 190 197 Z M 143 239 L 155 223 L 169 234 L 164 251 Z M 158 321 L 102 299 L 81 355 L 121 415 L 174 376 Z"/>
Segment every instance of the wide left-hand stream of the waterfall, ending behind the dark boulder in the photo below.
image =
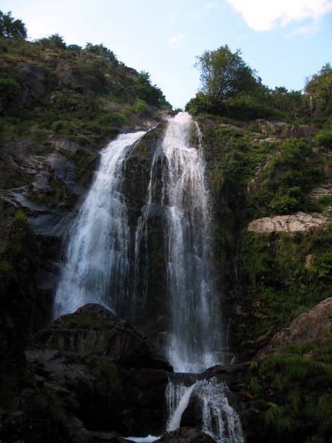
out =
<path fill-rule="evenodd" d="M 129 228 L 121 193 L 122 165 L 143 134 L 122 134 L 101 152 L 100 168 L 69 230 L 55 317 L 87 302 L 118 311 L 127 296 Z"/>

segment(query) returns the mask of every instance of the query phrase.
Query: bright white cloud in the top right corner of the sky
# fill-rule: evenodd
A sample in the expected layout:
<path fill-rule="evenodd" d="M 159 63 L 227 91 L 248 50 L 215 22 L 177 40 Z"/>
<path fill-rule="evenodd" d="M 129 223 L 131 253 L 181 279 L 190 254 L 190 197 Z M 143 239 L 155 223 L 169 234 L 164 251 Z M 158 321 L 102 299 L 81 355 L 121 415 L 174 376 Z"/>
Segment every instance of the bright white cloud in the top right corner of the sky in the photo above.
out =
<path fill-rule="evenodd" d="M 311 19 L 314 26 L 332 10 L 332 0 L 227 0 L 257 31 L 270 30 L 290 21 Z"/>

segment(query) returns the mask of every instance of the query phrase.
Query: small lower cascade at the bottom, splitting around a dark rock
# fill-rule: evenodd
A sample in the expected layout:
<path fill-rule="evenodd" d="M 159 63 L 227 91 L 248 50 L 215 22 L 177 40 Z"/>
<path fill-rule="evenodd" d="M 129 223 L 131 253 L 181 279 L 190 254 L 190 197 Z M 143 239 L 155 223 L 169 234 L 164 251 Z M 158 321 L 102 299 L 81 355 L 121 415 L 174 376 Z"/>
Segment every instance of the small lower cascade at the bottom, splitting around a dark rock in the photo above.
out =
<path fill-rule="evenodd" d="M 243 443 L 243 431 L 237 411 L 230 406 L 230 391 L 216 378 L 199 380 L 192 386 L 169 381 L 166 388 L 167 431 L 174 431 L 181 424 L 181 417 L 192 395 L 201 405 L 201 428 L 219 443 Z"/>

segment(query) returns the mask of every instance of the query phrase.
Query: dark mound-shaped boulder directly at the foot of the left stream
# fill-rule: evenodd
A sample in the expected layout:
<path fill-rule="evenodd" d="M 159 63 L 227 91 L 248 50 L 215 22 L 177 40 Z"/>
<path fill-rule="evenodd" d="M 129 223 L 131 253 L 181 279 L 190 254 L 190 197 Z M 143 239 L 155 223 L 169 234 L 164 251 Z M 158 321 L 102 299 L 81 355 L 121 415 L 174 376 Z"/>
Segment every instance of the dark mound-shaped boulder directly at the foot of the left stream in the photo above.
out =
<path fill-rule="evenodd" d="M 84 305 L 41 329 L 36 345 L 82 356 L 106 356 L 129 368 L 172 372 L 172 366 L 138 329 L 96 303 Z"/>

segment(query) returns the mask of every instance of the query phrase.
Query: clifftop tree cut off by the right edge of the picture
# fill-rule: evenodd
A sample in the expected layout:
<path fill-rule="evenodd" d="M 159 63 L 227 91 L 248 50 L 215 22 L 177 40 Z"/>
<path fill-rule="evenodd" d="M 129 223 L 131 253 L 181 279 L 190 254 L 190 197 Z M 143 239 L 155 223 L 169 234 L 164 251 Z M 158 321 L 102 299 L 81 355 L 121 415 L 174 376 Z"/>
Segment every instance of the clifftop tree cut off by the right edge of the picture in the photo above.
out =
<path fill-rule="evenodd" d="M 310 79 L 306 79 L 305 91 L 311 98 L 312 112 L 329 115 L 332 112 L 332 68 L 326 63 Z"/>

